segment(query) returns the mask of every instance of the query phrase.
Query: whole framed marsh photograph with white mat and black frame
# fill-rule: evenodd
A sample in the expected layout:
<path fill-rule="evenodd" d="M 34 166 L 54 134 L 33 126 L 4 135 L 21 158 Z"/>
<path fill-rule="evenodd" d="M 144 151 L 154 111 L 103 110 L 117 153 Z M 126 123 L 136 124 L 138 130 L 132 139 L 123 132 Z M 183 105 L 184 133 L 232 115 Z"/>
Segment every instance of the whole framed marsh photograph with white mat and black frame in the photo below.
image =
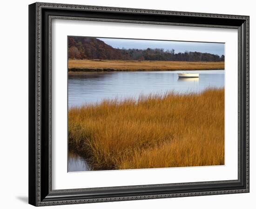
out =
<path fill-rule="evenodd" d="M 29 203 L 249 192 L 249 16 L 29 5 Z"/>

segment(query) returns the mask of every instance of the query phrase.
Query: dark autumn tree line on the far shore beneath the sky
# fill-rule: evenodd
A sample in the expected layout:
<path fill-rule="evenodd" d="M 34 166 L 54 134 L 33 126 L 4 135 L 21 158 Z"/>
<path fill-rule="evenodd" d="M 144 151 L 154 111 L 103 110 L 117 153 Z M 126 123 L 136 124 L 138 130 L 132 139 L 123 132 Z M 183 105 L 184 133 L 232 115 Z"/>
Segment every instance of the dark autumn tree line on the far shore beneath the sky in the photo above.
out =
<path fill-rule="evenodd" d="M 68 37 L 69 59 L 118 59 L 158 61 L 224 61 L 224 55 L 202 52 L 179 52 L 164 49 L 116 49 L 93 37 Z"/>

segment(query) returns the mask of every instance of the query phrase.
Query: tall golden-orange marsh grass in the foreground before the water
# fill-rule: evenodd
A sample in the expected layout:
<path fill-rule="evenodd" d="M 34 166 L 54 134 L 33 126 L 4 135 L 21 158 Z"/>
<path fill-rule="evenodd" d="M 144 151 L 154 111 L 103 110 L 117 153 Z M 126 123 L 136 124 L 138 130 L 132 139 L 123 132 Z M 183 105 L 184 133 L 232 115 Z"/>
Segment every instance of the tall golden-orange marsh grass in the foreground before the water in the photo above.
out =
<path fill-rule="evenodd" d="M 222 165 L 224 90 L 74 107 L 68 137 L 94 170 Z"/>

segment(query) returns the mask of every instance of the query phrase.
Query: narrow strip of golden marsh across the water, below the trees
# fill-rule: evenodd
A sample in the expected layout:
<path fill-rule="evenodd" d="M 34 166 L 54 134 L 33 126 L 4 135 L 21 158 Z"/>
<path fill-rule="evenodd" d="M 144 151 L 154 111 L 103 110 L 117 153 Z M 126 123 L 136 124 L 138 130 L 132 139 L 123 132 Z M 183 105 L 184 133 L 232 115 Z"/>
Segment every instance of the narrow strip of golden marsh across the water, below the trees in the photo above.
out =
<path fill-rule="evenodd" d="M 224 62 L 137 61 L 69 59 L 69 72 L 76 71 L 174 71 L 222 70 Z"/>

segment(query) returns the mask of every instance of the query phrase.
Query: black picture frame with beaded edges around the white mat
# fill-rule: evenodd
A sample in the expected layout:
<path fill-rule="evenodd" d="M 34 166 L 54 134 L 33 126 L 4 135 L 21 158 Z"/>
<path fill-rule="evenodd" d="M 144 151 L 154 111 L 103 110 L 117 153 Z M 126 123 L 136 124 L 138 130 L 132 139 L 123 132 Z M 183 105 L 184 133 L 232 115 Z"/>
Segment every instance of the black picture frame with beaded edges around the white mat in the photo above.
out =
<path fill-rule="evenodd" d="M 51 20 L 101 20 L 238 30 L 238 179 L 53 190 Z M 249 16 L 55 3 L 29 5 L 29 203 L 34 206 L 249 192 Z"/>

